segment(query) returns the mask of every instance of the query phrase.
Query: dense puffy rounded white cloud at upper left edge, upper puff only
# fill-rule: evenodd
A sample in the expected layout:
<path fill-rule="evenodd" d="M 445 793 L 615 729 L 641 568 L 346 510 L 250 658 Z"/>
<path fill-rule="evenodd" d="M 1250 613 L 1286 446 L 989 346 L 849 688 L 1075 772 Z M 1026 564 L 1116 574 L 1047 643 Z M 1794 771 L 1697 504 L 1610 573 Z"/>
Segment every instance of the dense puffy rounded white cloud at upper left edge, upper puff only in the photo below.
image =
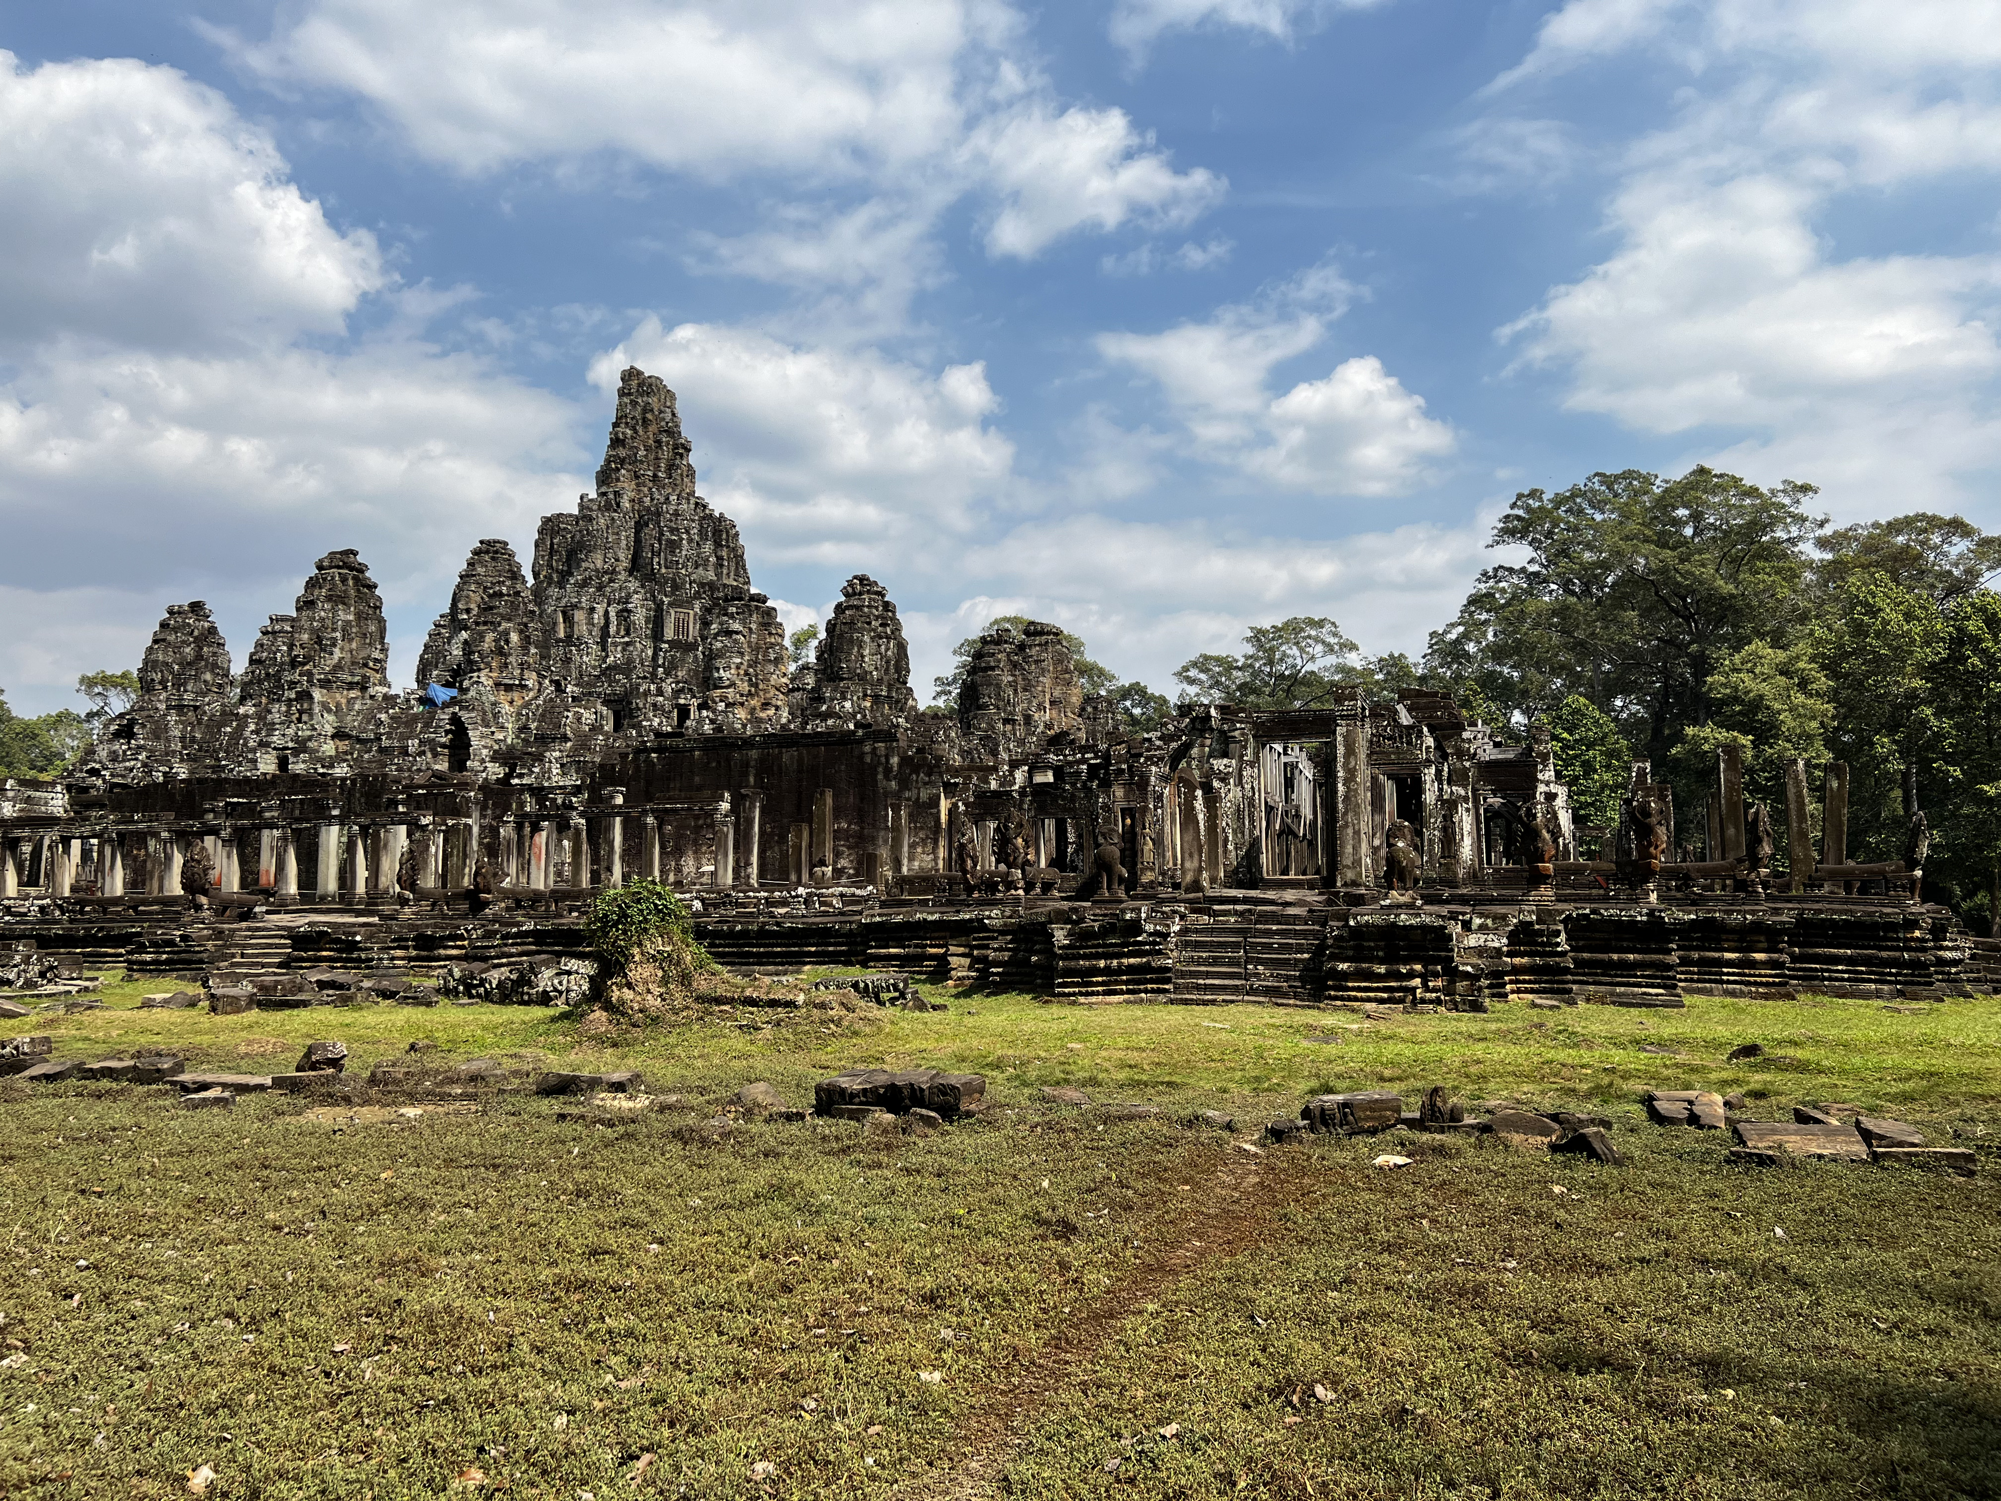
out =
<path fill-rule="evenodd" d="M 172 68 L 0 52 L 0 348 L 56 334 L 126 346 L 338 332 L 384 284 L 270 140 Z"/>

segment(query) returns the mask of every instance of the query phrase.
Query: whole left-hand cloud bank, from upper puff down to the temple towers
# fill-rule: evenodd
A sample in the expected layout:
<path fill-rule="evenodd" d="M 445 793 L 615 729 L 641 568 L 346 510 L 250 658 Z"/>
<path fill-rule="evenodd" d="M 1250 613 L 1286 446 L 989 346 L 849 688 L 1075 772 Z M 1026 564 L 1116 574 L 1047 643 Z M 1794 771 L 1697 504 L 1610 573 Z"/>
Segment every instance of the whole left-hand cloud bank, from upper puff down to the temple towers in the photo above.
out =
<path fill-rule="evenodd" d="M 574 494 L 570 406 L 426 342 L 464 288 L 396 288 L 222 96 L 136 62 L 6 58 L 0 114 L 16 708 L 62 702 L 50 676 L 82 652 L 134 664 L 176 598 L 206 596 L 244 650 L 334 546 L 414 626 L 472 540 Z M 364 304 L 384 332 L 348 338 Z"/>

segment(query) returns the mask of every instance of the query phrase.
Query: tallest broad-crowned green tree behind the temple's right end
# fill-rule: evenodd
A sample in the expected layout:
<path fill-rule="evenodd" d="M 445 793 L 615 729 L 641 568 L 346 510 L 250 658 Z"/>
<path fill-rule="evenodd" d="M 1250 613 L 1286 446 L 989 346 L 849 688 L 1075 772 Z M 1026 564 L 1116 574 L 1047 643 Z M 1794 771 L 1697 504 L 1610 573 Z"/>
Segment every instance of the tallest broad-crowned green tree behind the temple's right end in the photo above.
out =
<path fill-rule="evenodd" d="M 1521 718 L 1591 700 L 1649 759 L 1711 716 L 1709 680 L 1753 640 L 1787 644 L 1799 618 L 1815 488 L 1771 490 L 1697 466 L 1677 480 L 1621 470 L 1557 494 L 1523 490 L 1425 666 Z"/>

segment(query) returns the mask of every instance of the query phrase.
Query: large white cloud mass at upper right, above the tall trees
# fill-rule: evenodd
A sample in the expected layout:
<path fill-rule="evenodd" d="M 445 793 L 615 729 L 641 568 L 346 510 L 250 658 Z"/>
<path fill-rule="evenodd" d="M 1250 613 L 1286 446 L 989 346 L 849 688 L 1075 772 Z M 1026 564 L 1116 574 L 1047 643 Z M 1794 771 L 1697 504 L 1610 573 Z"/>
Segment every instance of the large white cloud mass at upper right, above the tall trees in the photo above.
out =
<path fill-rule="evenodd" d="M 1841 254 L 1827 224 L 1855 194 L 2001 172 L 2001 6 L 1573 0 L 1523 68 L 1641 42 L 1697 82 L 1625 152 L 1613 252 L 1501 336 L 1569 406 L 1741 432 L 1693 456 L 1821 480 L 1835 510 L 1967 504 L 2001 466 L 2001 256 Z"/>

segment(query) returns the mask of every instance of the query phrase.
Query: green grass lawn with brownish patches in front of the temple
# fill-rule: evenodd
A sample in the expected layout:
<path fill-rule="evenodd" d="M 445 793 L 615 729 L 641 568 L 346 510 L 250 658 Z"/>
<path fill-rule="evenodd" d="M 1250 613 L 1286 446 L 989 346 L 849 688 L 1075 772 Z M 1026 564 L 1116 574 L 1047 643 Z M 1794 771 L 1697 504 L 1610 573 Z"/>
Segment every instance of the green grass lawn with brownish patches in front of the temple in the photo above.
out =
<path fill-rule="evenodd" d="M 1985 1149 L 2001 1001 L 1367 1021 L 928 991 L 948 1011 L 600 1047 L 538 1009 L 210 1017 L 144 989 L 0 1037 L 260 1073 L 338 1039 L 362 1075 L 428 1041 L 636 1067 L 686 1107 L 340 1125 L 0 1083 L 0 1493 L 188 1495 L 204 1465 L 222 1497 L 2001 1493 L 2001 1159 L 1747 1171 L 1639 1109 L 1851 1101 Z M 1771 1057 L 1725 1063 L 1747 1041 Z M 704 1127 L 746 1081 L 804 1105 L 862 1063 L 980 1071 L 998 1109 Z M 1631 1161 L 1407 1133 L 1253 1155 L 1187 1125 L 1433 1083 L 1591 1105 Z"/>

